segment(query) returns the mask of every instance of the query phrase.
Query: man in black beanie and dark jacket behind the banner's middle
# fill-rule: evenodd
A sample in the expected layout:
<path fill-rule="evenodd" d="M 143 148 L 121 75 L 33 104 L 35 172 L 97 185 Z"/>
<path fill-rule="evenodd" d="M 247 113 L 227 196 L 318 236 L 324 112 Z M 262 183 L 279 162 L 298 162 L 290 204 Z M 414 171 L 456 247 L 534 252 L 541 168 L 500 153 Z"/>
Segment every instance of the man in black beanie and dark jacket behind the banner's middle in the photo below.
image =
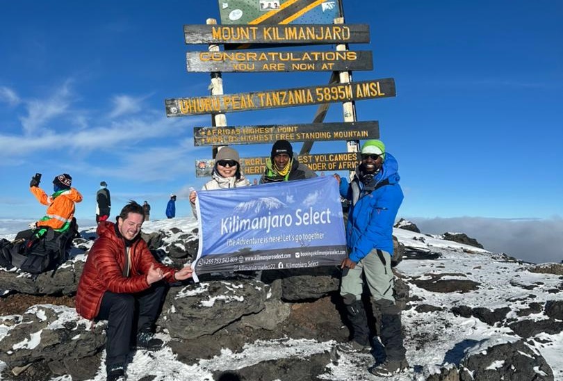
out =
<path fill-rule="evenodd" d="M 292 181 L 317 177 L 307 165 L 300 163 L 293 155 L 293 147 L 287 140 L 277 140 L 272 145 L 270 158 L 266 159 L 266 170 L 260 184 L 277 181 Z"/>

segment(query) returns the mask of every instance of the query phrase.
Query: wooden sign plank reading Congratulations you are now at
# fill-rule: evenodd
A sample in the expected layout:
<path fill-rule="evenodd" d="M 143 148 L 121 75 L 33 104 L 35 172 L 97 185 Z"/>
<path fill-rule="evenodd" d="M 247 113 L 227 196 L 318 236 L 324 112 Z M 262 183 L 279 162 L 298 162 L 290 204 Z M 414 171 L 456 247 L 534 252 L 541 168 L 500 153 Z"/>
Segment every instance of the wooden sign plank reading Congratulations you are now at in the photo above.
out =
<path fill-rule="evenodd" d="M 371 51 L 188 51 L 188 72 L 373 70 Z"/>

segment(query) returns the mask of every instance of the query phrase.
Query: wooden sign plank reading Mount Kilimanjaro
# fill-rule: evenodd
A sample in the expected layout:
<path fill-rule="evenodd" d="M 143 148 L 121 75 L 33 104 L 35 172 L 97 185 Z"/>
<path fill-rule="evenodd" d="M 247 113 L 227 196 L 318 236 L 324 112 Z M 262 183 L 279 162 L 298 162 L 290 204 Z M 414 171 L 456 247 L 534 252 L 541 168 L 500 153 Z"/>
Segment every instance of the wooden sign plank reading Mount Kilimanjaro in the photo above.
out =
<path fill-rule="evenodd" d="M 184 25 L 186 44 L 348 44 L 370 42 L 368 24 Z"/>

